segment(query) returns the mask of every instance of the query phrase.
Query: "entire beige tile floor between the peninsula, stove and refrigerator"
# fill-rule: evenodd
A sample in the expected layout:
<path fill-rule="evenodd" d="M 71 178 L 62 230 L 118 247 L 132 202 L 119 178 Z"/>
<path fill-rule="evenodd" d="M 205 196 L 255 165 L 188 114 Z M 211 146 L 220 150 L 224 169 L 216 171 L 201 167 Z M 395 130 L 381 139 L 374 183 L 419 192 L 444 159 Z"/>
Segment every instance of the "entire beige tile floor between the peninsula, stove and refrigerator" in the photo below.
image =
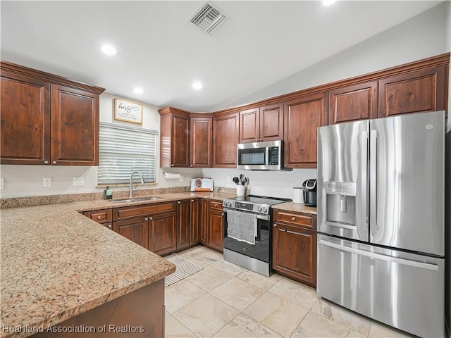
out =
<path fill-rule="evenodd" d="M 413 337 L 204 246 L 178 255 L 204 270 L 166 287 L 166 337 Z"/>

